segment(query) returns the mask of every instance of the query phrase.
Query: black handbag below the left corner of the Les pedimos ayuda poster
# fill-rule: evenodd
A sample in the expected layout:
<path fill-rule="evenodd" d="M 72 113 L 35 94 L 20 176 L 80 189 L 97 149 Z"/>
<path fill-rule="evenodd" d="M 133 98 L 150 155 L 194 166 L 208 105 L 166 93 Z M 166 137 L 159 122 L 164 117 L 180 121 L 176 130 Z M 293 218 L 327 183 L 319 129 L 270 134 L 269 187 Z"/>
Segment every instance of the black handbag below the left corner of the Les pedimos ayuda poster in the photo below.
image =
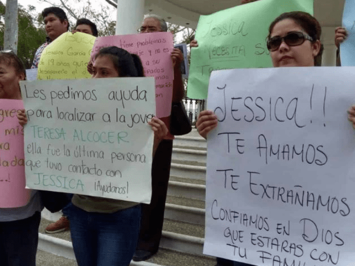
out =
<path fill-rule="evenodd" d="M 54 213 L 63 209 L 69 202 L 72 201 L 73 194 L 64 192 L 54 192 L 39 190 L 41 194 L 41 200 L 46 209 Z"/>

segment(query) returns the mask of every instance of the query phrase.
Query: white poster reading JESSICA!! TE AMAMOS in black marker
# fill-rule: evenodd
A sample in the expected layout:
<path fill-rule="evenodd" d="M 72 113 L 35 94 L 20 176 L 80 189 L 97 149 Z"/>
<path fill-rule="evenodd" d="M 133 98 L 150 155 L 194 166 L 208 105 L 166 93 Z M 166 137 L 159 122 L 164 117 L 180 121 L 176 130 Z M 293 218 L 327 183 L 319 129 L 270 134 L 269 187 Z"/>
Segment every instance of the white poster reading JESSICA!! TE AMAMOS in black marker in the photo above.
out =
<path fill-rule="evenodd" d="M 204 253 L 254 265 L 352 265 L 355 67 L 214 71 Z"/>

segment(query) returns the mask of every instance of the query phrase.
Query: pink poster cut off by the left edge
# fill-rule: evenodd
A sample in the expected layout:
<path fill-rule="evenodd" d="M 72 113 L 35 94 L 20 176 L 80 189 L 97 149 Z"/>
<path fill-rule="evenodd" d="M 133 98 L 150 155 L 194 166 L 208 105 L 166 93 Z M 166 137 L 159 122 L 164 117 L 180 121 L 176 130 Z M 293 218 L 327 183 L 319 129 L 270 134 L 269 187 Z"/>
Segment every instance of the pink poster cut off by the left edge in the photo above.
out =
<path fill-rule="evenodd" d="M 19 109 L 22 100 L 0 99 L 0 208 L 21 207 L 30 199 L 30 190 L 25 189 L 23 128 L 16 116 Z"/>

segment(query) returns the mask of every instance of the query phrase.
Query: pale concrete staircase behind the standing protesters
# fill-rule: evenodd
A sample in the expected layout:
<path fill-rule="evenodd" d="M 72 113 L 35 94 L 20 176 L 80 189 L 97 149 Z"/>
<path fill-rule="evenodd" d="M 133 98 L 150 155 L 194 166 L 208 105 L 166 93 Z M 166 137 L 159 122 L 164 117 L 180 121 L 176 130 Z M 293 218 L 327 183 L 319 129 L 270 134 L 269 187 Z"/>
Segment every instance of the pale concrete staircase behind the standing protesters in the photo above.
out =
<path fill-rule="evenodd" d="M 202 254 L 205 224 L 206 141 L 194 129 L 174 140 L 167 203 L 159 252 L 145 262 L 130 265 L 215 265 L 215 259 Z M 49 256 L 73 260 L 69 232 L 45 234 L 44 228 L 60 214 L 42 213 L 39 250 Z M 41 264 L 38 264 L 41 265 Z M 43 265 L 44 266 L 44 265 Z"/>

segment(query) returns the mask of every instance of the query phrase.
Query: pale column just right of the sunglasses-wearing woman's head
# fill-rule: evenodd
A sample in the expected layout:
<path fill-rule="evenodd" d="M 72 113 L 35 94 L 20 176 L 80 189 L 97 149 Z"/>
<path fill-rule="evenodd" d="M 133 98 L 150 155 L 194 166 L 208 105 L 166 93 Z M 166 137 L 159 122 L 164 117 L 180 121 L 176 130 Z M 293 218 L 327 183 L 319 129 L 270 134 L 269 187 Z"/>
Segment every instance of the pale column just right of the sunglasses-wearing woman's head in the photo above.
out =
<path fill-rule="evenodd" d="M 336 27 L 322 27 L 322 43 L 324 51 L 322 56 L 322 66 L 335 66 L 337 59 L 337 47 L 334 43 Z"/>

